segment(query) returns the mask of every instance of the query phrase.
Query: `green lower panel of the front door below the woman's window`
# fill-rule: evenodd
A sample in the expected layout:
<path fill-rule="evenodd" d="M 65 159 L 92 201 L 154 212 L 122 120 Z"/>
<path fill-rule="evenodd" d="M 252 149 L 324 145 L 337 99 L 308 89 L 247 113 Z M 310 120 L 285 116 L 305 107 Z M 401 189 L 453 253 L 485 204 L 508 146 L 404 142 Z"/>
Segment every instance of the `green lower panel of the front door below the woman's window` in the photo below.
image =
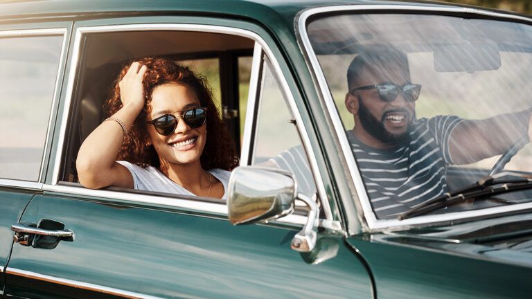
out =
<path fill-rule="evenodd" d="M 43 218 L 64 223 L 75 238 L 53 249 L 15 244 L 6 269 L 10 296 L 87 295 L 73 286 L 55 293 L 54 282 L 28 289 L 24 271 L 164 298 L 371 296 L 364 265 L 341 237 L 332 237 L 337 255 L 314 266 L 290 249 L 294 229 L 233 227 L 227 219 L 179 211 L 36 196 L 21 221 Z"/>

